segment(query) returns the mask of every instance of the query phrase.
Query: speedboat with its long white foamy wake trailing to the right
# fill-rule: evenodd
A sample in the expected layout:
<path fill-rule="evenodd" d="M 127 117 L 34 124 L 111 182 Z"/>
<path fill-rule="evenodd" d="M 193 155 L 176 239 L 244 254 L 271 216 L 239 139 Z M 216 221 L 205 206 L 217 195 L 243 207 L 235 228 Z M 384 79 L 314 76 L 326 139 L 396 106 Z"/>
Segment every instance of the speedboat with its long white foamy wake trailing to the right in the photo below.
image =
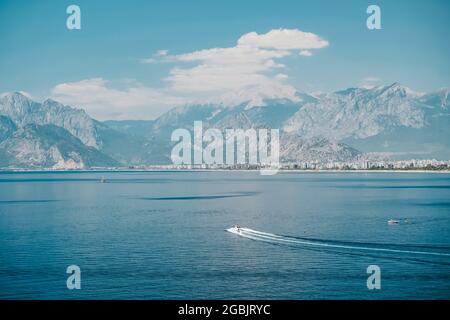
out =
<path fill-rule="evenodd" d="M 284 244 L 296 247 L 311 247 L 311 248 L 326 248 L 326 249 L 342 249 L 342 250 L 359 250 L 359 251 L 371 251 L 379 253 L 394 253 L 394 254 L 409 254 L 409 255 L 421 255 L 421 256 L 435 256 L 435 257 L 448 257 L 450 258 L 450 252 L 442 251 L 429 251 L 429 250 L 413 250 L 412 248 L 434 248 L 445 249 L 448 251 L 448 247 L 431 247 L 431 246 L 413 246 L 413 245 L 395 245 L 395 244 L 380 244 L 380 243 L 361 243 L 361 242 L 349 242 L 349 241 L 334 241 L 323 239 L 308 239 L 292 236 L 277 235 L 268 232 L 261 232 L 250 228 L 229 228 L 228 232 L 237 234 L 241 237 L 248 238 L 256 241 L 263 241 L 273 244 Z M 406 250 L 411 248 L 411 250 Z"/>

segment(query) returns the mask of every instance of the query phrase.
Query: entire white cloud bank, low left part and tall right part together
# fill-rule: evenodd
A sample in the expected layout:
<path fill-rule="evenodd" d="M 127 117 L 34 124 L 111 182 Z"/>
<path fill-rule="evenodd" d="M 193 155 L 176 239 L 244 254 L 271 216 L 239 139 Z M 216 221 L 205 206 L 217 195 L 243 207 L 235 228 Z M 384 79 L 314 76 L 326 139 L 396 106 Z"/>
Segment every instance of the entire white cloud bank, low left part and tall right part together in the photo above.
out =
<path fill-rule="evenodd" d="M 288 66 L 280 62 L 289 56 L 311 56 L 328 41 L 298 29 L 249 32 L 224 48 L 201 49 L 182 54 L 158 50 L 142 59 L 145 64 L 169 63 L 168 75 L 160 87 L 131 81 L 120 87 L 101 77 L 61 83 L 52 97 L 85 108 L 100 119 L 151 119 L 168 108 L 188 103 L 249 103 L 262 99 L 295 100 L 289 84 Z"/>

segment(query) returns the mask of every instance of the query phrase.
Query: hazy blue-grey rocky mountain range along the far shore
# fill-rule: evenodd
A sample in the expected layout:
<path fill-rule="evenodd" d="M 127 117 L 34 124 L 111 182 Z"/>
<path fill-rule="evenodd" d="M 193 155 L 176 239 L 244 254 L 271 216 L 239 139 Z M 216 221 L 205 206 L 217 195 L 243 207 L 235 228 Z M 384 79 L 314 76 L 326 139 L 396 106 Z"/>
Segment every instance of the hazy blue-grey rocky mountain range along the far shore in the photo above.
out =
<path fill-rule="evenodd" d="M 177 128 L 280 129 L 284 162 L 450 159 L 449 89 L 393 83 L 295 101 L 176 107 L 155 120 L 100 122 L 84 110 L 13 92 L 0 96 L 0 167 L 81 169 L 170 164 Z"/>

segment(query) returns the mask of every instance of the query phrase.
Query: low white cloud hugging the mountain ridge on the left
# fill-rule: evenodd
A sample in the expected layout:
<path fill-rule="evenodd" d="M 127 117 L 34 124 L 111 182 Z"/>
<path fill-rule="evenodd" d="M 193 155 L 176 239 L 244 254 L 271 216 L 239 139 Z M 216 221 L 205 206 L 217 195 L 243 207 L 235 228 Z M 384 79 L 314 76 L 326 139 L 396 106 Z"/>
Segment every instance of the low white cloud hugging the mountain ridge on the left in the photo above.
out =
<path fill-rule="evenodd" d="M 52 98 L 83 108 L 100 120 L 153 119 L 174 106 L 189 102 L 136 82 L 128 81 L 123 88 L 113 88 L 111 82 L 102 78 L 58 84 L 52 90 Z"/>

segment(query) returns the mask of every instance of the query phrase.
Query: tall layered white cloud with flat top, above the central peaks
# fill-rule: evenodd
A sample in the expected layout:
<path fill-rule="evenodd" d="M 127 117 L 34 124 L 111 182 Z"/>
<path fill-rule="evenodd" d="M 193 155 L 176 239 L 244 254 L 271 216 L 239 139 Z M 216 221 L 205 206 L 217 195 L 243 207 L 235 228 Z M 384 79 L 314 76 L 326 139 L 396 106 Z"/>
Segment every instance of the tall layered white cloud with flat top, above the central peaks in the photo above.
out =
<path fill-rule="evenodd" d="M 179 92 L 222 92 L 249 87 L 283 86 L 277 69 L 279 59 L 299 51 L 312 55 L 313 49 L 328 46 L 319 36 L 297 29 L 276 29 L 265 34 L 250 32 L 229 48 L 212 48 L 168 57 L 171 61 L 197 62 L 188 68 L 174 67 L 166 81 Z M 168 61 L 167 58 L 164 61 Z M 272 91 L 272 90 L 271 90 Z"/>

